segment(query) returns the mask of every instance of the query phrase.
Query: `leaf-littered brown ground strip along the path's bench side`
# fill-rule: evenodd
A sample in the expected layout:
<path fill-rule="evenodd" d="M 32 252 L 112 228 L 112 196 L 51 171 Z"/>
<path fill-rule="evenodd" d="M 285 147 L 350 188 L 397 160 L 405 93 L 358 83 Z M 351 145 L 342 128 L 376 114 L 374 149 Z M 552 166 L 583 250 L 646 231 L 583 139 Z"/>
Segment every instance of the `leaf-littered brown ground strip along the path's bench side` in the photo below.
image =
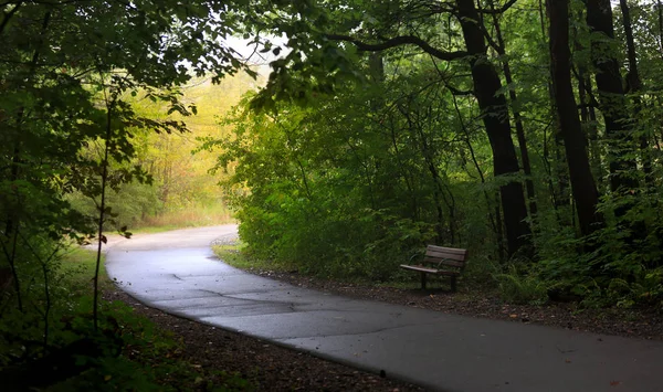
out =
<path fill-rule="evenodd" d="M 581 308 L 577 303 L 557 301 L 546 305 L 509 305 L 501 300 L 497 293 L 463 287 L 462 280 L 459 283 L 459 293 L 451 293 L 444 287 L 449 282 L 443 282 L 443 288 L 422 290 L 327 280 L 297 273 L 261 269 L 249 272 L 294 286 L 359 299 L 583 332 L 663 340 L 663 310 L 655 307 L 592 309 Z"/>

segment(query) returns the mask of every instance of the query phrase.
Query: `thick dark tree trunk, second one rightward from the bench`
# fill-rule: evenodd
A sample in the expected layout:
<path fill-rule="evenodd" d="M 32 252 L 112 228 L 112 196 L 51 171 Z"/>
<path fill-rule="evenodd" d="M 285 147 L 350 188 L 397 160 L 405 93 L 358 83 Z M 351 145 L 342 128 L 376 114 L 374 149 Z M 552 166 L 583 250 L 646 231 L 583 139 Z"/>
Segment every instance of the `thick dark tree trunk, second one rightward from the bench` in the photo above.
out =
<path fill-rule="evenodd" d="M 597 212 L 599 192 L 591 174 L 585 148 L 585 136 L 571 86 L 569 0 L 547 0 L 547 8 L 550 18 L 550 73 L 557 116 L 564 137 L 580 232 L 582 235 L 589 235 L 601 225 L 602 218 Z"/>

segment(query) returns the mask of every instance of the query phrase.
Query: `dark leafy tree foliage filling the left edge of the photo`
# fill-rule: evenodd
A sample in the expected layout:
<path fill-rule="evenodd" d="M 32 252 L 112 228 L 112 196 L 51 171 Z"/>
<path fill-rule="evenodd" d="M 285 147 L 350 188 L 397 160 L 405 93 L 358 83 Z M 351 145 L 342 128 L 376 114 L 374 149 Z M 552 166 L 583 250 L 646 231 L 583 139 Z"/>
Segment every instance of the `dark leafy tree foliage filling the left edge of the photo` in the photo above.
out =
<path fill-rule="evenodd" d="M 181 99 L 181 85 L 194 75 L 219 82 L 239 70 L 255 74 L 223 41 L 236 29 L 231 13 L 242 6 L 148 0 L 9 1 L 0 7 L 3 375 L 20 374 L 59 354 L 72 359 L 69 353 L 82 350 L 85 361 L 64 361 L 59 372 L 46 365 L 42 381 L 50 384 L 87 364 L 115 369 L 109 379 L 108 373 L 92 375 L 95 384 L 108 389 L 130 381 L 143 390 L 149 385 L 140 382 L 161 378 L 126 374 L 131 364 L 113 350 L 131 342 L 123 340 L 130 335 L 116 330 L 118 319 L 105 314 L 122 316 L 119 309 L 97 309 L 101 253 L 85 279 L 92 300 L 74 299 L 61 273 L 61 256 L 70 241 L 92 237 L 101 251 L 109 224 L 129 235 L 117 221 L 158 204 L 149 192 L 152 177 L 136 160 L 137 139 L 187 131 L 182 118 L 197 108 Z M 141 113 L 139 98 L 164 115 Z M 107 195 L 114 205 L 106 203 Z M 91 202 L 86 211 L 80 208 L 83 199 Z M 92 317 L 84 310 L 90 308 Z M 127 380 L 122 374 L 140 377 Z M 30 375 L 14 381 L 36 382 Z"/>

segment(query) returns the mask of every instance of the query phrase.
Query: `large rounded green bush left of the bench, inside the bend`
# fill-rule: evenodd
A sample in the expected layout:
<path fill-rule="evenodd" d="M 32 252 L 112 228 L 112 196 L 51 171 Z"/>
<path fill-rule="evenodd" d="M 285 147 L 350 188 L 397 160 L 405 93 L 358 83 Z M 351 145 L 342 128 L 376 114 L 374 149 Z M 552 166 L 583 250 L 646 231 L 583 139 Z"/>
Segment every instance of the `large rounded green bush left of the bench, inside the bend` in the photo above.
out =
<path fill-rule="evenodd" d="M 352 107 L 359 110 L 386 93 L 355 95 Z M 234 135 L 207 139 L 206 147 L 223 147 L 219 168 L 230 172 L 228 200 L 239 208 L 250 251 L 316 274 L 386 279 L 413 247 L 435 236 L 459 241 L 455 222 L 435 219 L 453 214 L 456 200 L 448 180 L 430 169 L 439 157 L 429 145 L 449 141 L 425 134 L 439 129 L 433 118 L 420 125 L 424 129 L 397 135 L 394 123 L 407 123 L 398 113 L 385 114 L 387 119 L 351 110 L 339 116 L 339 105 L 345 110 L 347 104 L 320 98 L 315 108 L 290 107 L 276 115 L 238 108 L 228 119 Z"/>

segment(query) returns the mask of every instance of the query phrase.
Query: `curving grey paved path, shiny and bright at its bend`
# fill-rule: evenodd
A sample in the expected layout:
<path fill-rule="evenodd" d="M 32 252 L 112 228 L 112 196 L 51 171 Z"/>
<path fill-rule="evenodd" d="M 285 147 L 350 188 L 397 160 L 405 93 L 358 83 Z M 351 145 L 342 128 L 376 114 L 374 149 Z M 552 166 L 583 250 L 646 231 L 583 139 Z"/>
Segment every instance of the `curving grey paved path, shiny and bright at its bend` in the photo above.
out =
<path fill-rule="evenodd" d="M 209 243 L 234 225 L 110 247 L 123 289 L 170 314 L 439 391 L 663 391 L 663 342 L 356 300 L 246 274 Z"/>

